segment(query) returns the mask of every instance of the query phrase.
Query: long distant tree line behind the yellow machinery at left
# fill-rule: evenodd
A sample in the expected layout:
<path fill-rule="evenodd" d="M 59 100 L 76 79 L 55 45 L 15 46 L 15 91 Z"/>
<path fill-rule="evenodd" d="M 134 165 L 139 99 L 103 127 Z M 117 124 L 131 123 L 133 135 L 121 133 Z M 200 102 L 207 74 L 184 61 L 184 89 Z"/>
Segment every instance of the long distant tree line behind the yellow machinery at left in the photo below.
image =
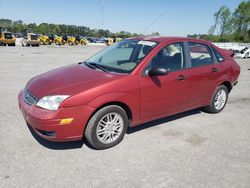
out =
<path fill-rule="evenodd" d="M 52 23 L 36 23 L 25 24 L 22 20 L 13 21 L 10 19 L 0 19 L 0 27 L 7 29 L 13 33 L 20 33 L 24 30 L 29 30 L 38 34 L 56 34 L 56 35 L 82 35 L 89 37 L 136 37 L 137 33 L 127 31 L 111 32 L 103 29 L 90 29 L 86 26 L 52 24 Z"/>

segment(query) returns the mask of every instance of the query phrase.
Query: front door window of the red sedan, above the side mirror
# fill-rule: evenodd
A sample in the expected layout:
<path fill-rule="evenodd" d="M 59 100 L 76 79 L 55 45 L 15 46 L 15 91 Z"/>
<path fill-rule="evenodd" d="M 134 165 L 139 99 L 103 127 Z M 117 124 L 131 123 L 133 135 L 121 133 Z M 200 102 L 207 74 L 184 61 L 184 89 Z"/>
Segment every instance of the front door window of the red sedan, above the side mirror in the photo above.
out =
<path fill-rule="evenodd" d="M 147 70 L 153 67 L 164 68 L 169 72 L 185 68 L 182 43 L 174 43 L 162 48 L 151 60 Z"/>

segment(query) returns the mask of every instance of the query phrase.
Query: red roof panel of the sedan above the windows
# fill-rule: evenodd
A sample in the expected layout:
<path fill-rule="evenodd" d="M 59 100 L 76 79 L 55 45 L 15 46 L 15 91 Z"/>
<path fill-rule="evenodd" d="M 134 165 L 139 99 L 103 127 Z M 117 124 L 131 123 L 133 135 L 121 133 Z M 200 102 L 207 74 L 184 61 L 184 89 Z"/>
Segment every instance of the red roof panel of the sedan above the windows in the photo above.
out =
<path fill-rule="evenodd" d="M 146 40 L 146 41 L 153 41 L 153 42 L 166 42 L 166 41 L 193 41 L 193 42 L 205 42 L 211 44 L 211 42 L 202 40 L 202 39 L 195 39 L 195 38 L 187 38 L 187 37 L 165 37 L 165 36 L 140 36 L 130 39 L 138 39 L 138 40 Z"/>

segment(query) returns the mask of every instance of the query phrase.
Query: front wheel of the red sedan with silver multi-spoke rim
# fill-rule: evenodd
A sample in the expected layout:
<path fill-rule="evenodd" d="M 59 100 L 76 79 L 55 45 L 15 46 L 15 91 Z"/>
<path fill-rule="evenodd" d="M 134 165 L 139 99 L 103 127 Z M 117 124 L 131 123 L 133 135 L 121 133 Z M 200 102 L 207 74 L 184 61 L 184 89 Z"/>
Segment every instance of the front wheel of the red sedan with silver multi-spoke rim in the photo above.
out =
<path fill-rule="evenodd" d="M 94 148 L 107 149 L 120 143 L 129 125 L 127 113 L 117 105 L 98 110 L 89 120 L 85 138 Z"/>

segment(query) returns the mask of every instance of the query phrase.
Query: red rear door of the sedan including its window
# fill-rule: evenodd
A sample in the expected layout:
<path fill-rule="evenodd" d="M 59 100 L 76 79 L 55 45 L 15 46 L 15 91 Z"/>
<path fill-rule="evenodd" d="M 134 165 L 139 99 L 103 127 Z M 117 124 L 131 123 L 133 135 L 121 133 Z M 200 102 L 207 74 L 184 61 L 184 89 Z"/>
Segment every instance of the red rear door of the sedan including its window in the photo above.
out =
<path fill-rule="evenodd" d="M 188 105 L 197 107 L 209 103 L 219 78 L 225 73 L 209 45 L 188 42 L 187 48 L 191 63 L 188 74 Z"/>

